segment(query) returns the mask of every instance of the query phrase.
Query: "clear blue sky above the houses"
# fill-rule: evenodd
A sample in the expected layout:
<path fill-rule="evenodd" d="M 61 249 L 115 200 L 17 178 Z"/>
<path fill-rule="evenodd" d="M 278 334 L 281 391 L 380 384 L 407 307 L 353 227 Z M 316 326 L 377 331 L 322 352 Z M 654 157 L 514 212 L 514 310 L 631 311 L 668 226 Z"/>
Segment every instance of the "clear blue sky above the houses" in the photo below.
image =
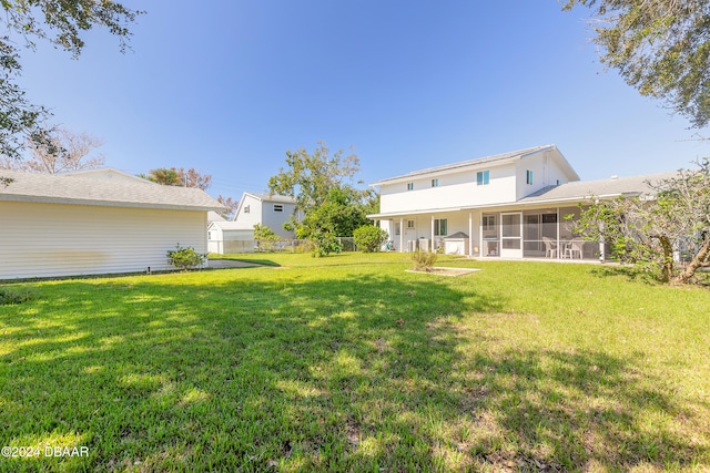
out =
<path fill-rule="evenodd" d="M 207 191 L 263 192 L 318 141 L 372 183 L 556 144 L 582 179 L 689 167 L 710 142 L 599 63 L 588 11 L 556 0 L 130 0 L 74 61 L 40 44 L 21 84 L 129 173 L 195 167 Z"/>

